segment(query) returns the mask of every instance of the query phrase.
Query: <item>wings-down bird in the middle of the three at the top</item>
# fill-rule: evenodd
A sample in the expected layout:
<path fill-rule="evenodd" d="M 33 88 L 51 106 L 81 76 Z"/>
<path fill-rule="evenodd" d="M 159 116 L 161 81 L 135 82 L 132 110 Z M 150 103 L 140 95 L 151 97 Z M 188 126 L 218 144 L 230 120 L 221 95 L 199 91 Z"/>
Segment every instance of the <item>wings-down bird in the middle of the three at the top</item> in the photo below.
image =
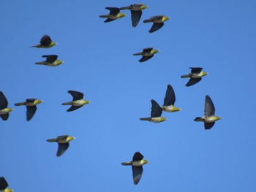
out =
<path fill-rule="evenodd" d="M 135 27 L 140 22 L 142 10 L 148 8 L 146 4 L 131 4 L 127 7 L 121 7 L 121 10 L 129 9 L 132 15 L 132 26 Z"/>

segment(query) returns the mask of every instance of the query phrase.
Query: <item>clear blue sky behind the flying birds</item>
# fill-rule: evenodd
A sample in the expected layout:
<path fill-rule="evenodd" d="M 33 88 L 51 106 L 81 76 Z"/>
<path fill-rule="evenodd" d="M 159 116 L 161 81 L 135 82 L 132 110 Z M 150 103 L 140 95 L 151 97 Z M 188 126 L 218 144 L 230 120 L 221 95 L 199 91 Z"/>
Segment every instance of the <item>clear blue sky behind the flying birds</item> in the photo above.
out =
<path fill-rule="evenodd" d="M 104 23 L 105 7 L 143 3 L 140 23 L 127 17 Z M 0 2 L 1 91 L 11 112 L 1 121 L 1 176 L 25 191 L 255 191 L 255 1 L 6 1 Z M 167 15 L 149 34 L 144 19 Z M 50 35 L 58 45 L 29 48 Z M 144 47 L 161 51 L 139 63 Z M 42 55 L 64 64 L 38 66 Z M 209 75 L 185 87 L 182 74 L 201 66 Z M 151 99 L 163 103 L 167 84 L 181 112 L 150 115 Z M 90 104 L 66 112 L 69 90 Z M 203 115 L 206 94 L 216 115 L 211 130 L 193 119 Z M 26 122 L 27 98 L 42 99 Z M 46 139 L 70 134 L 77 139 L 56 157 Z M 121 166 L 140 151 L 150 161 L 138 185 Z"/>

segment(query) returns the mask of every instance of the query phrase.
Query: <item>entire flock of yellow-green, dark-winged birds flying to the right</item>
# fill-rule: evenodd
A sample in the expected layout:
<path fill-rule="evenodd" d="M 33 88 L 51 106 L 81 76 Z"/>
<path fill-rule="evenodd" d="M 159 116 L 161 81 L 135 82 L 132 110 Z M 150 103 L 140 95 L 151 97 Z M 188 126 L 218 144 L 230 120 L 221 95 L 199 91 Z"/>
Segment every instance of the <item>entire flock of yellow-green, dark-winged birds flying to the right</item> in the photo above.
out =
<path fill-rule="evenodd" d="M 104 22 L 110 22 L 119 18 L 126 16 L 127 14 L 121 13 L 120 10 L 129 9 L 131 11 L 131 18 L 132 18 L 132 26 L 136 27 L 140 21 L 142 10 L 148 8 L 145 4 L 131 4 L 127 7 L 106 7 L 110 13 L 108 15 L 100 15 L 99 18 L 107 18 Z M 153 33 L 162 26 L 164 26 L 164 22 L 169 20 L 170 18 L 165 15 L 158 15 L 151 17 L 149 19 L 143 20 L 143 23 L 152 22 L 153 26 L 149 30 L 149 33 Z M 48 35 L 45 35 L 41 38 L 39 45 L 34 45 L 31 47 L 37 48 L 50 48 L 54 45 L 57 45 L 56 42 L 53 42 Z M 152 58 L 155 53 L 159 53 L 159 50 L 154 50 L 152 47 L 144 48 L 142 52 L 135 53 L 133 55 L 142 55 L 140 58 L 140 62 L 147 61 L 148 59 Z M 46 58 L 46 61 L 37 62 L 35 64 L 41 64 L 45 66 L 59 66 L 63 64 L 64 61 L 57 60 L 58 55 L 42 55 L 43 58 Z M 203 72 L 201 67 L 190 67 L 191 72 L 189 74 L 182 75 L 181 78 L 190 78 L 189 82 L 187 82 L 186 86 L 195 85 L 197 82 L 202 80 L 202 77 L 207 75 L 207 72 Z M 83 93 L 78 91 L 68 91 L 72 95 L 72 101 L 64 102 L 62 105 L 71 105 L 67 112 L 71 112 L 74 110 L 78 110 L 78 108 L 83 107 L 85 104 L 89 104 L 90 101 L 83 99 Z M 177 112 L 181 111 L 181 108 L 175 107 L 176 96 L 173 90 L 173 87 L 169 84 L 167 85 L 167 90 L 165 93 L 164 104 L 162 107 L 159 106 L 157 101 L 154 99 L 151 100 L 151 116 L 148 118 L 140 118 L 140 120 L 148 120 L 153 123 L 160 123 L 162 121 L 167 120 L 167 118 L 163 118 L 162 112 Z M 26 106 L 26 120 L 29 121 L 33 118 L 35 112 L 37 111 L 37 104 L 42 103 L 42 100 L 39 99 L 26 99 L 26 101 L 16 103 L 15 106 Z M 0 116 L 2 120 L 7 120 L 9 118 L 9 113 L 12 111 L 12 108 L 8 107 L 8 101 L 4 96 L 4 93 L 0 91 Z M 215 107 L 214 103 L 211 100 L 210 96 L 206 95 L 205 100 L 205 109 L 204 109 L 204 116 L 197 117 L 195 121 L 204 122 L 205 129 L 210 129 L 214 126 L 215 121 L 221 119 L 220 117 L 215 115 Z M 56 137 L 54 139 L 47 139 L 48 142 L 57 142 L 59 147 L 57 150 L 56 155 L 59 157 L 61 156 L 69 147 L 69 142 L 75 139 L 75 137 L 69 135 L 62 135 Z M 136 152 L 133 155 L 132 161 L 124 162 L 122 165 L 124 166 L 132 166 L 132 177 L 133 182 L 137 185 L 140 181 L 140 178 L 143 174 L 143 165 L 147 164 L 148 161 L 143 159 L 143 155 L 140 152 Z M 0 177 L 0 191 L 4 192 L 12 192 L 12 189 L 7 188 L 8 183 L 4 179 L 4 177 Z"/>

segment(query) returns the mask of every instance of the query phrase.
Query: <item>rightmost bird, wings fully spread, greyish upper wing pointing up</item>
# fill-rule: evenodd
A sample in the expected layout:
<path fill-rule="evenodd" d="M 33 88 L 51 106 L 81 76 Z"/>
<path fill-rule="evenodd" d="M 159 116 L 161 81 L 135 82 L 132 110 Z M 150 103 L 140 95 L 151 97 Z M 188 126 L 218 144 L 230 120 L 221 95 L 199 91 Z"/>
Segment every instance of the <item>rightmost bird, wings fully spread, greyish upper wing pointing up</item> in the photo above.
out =
<path fill-rule="evenodd" d="M 206 95 L 204 117 L 195 118 L 195 121 L 203 121 L 205 129 L 210 129 L 214 126 L 215 121 L 222 119 L 221 117 L 215 116 L 215 107 L 210 96 Z"/>

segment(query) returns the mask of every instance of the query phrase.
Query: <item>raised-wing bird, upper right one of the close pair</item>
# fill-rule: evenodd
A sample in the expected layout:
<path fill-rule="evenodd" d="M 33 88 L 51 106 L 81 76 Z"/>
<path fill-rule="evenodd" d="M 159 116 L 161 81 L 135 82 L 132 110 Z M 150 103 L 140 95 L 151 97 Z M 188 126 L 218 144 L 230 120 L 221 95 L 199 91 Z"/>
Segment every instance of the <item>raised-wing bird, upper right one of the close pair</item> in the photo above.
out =
<path fill-rule="evenodd" d="M 176 96 L 173 91 L 173 87 L 169 84 L 167 85 L 167 90 L 165 93 L 165 99 L 164 99 L 164 104 L 162 106 L 162 110 L 165 112 L 181 111 L 181 108 L 174 106 L 175 101 L 176 101 Z"/>

